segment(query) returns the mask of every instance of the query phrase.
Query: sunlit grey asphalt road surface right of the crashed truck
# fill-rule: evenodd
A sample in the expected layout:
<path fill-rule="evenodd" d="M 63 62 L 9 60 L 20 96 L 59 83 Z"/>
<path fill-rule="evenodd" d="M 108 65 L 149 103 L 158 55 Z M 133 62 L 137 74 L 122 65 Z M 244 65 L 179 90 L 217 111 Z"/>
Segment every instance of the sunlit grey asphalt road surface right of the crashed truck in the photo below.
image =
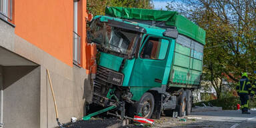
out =
<path fill-rule="evenodd" d="M 241 114 L 241 111 L 209 111 L 193 112 L 186 117 L 199 117 L 201 119 L 161 117 L 155 121 L 155 128 L 160 127 L 227 127 L 227 128 L 256 128 L 256 111 L 250 111 L 250 115 Z"/>

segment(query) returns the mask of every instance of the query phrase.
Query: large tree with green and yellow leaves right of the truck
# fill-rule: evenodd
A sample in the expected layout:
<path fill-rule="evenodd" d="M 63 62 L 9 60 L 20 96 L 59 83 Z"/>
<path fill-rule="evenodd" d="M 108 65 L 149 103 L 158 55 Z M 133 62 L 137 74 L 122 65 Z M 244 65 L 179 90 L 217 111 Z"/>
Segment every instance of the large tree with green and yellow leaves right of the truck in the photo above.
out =
<path fill-rule="evenodd" d="M 167 9 L 179 11 L 207 32 L 203 71 L 218 98 L 226 76 L 237 82 L 242 72 L 256 70 L 255 0 L 173 0 Z"/>

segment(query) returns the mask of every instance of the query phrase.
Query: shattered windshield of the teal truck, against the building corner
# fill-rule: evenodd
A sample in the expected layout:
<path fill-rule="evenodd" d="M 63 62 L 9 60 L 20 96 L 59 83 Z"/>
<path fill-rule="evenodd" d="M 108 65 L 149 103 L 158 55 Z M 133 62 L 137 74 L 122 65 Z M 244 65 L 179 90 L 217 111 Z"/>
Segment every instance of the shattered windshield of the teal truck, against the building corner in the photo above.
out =
<path fill-rule="evenodd" d="M 88 42 L 94 42 L 103 49 L 125 55 L 133 55 L 141 33 L 113 27 L 105 22 L 93 21 L 88 31 Z"/>

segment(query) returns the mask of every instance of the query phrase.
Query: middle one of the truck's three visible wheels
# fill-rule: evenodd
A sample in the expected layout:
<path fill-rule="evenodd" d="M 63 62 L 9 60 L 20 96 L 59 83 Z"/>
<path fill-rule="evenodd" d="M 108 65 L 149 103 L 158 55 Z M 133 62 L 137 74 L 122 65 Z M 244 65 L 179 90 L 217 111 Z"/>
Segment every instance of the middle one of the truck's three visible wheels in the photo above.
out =
<path fill-rule="evenodd" d="M 178 111 L 178 116 L 183 117 L 186 115 L 186 102 L 187 100 L 187 93 L 186 91 L 182 91 L 181 94 L 178 97 L 178 105 L 177 105 L 177 111 Z"/>

